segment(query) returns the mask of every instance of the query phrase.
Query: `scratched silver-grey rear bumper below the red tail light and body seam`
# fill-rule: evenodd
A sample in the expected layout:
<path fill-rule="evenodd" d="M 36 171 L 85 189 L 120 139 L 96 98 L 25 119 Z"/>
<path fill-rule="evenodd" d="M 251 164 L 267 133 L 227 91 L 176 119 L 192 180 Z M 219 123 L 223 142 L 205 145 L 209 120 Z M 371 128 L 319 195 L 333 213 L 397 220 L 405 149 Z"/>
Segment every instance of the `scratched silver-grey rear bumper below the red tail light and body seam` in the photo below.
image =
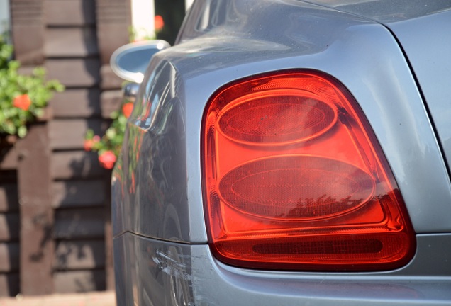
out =
<path fill-rule="evenodd" d="M 299 273 L 226 266 L 206 244 L 126 233 L 114 239 L 118 305 L 451 305 L 451 259 L 448 271 L 434 268 L 448 261 L 451 235 L 417 242 L 426 251 L 397 271 Z"/>

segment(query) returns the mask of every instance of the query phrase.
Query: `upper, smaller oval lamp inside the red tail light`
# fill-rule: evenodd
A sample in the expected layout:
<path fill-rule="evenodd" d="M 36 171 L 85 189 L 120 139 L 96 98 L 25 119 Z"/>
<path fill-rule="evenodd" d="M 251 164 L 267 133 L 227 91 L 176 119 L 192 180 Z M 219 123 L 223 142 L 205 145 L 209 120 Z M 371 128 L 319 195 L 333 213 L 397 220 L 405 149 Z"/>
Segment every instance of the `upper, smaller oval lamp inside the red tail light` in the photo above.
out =
<path fill-rule="evenodd" d="M 317 137 L 335 120 L 336 109 L 315 94 L 270 89 L 237 98 L 218 115 L 218 128 L 236 142 L 284 145 Z"/>

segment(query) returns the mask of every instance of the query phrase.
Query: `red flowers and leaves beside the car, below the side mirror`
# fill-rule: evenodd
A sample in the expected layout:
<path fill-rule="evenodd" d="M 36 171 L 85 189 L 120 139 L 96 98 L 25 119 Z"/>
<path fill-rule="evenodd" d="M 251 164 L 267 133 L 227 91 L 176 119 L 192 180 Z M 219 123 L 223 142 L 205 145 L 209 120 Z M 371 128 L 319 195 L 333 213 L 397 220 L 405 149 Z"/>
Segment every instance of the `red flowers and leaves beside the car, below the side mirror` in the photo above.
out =
<path fill-rule="evenodd" d="M 99 162 L 105 169 L 113 169 L 123 142 L 123 133 L 126 130 L 127 118 L 133 111 L 133 103 L 126 101 L 119 111 L 111 113 L 111 123 L 105 135 L 95 135 L 93 130 L 88 130 L 84 137 L 84 149 L 99 154 Z"/>

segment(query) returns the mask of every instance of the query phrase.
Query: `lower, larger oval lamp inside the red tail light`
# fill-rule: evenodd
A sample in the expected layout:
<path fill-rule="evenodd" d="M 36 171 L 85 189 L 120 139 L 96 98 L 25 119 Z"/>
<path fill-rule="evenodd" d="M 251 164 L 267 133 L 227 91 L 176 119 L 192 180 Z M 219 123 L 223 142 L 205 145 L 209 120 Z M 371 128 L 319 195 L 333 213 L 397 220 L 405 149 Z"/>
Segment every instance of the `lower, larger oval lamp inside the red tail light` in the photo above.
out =
<path fill-rule="evenodd" d="M 374 183 L 361 169 L 303 155 L 259 159 L 223 176 L 225 204 L 243 213 L 279 220 L 309 220 L 353 210 L 372 196 Z"/>

